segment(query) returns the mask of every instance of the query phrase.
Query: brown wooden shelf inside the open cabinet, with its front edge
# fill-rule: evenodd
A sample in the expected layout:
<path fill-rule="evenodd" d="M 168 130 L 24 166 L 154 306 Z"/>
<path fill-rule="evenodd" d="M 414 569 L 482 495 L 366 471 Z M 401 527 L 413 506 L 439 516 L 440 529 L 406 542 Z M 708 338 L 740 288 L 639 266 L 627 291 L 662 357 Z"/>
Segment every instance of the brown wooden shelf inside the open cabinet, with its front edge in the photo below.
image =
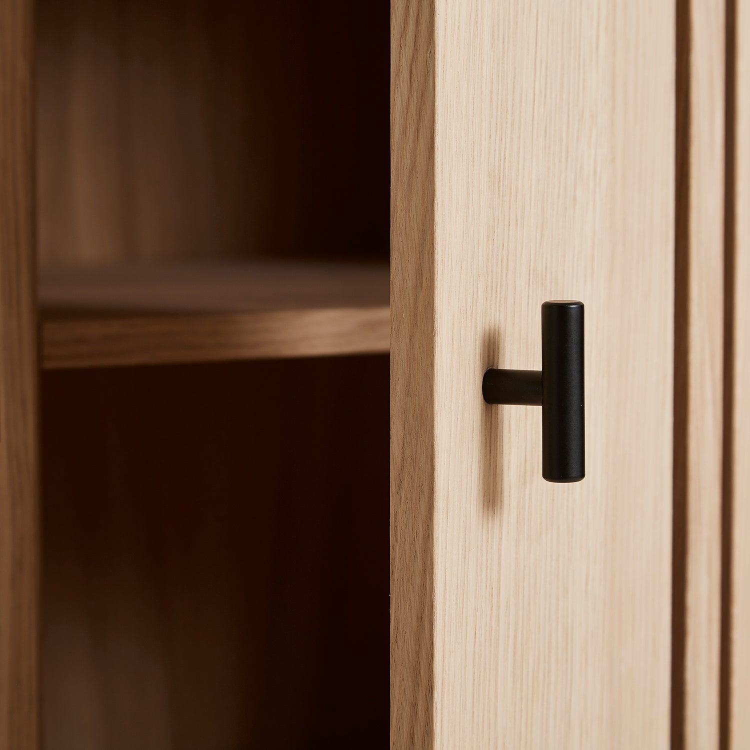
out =
<path fill-rule="evenodd" d="M 389 350 L 387 265 L 43 269 L 45 369 Z"/>

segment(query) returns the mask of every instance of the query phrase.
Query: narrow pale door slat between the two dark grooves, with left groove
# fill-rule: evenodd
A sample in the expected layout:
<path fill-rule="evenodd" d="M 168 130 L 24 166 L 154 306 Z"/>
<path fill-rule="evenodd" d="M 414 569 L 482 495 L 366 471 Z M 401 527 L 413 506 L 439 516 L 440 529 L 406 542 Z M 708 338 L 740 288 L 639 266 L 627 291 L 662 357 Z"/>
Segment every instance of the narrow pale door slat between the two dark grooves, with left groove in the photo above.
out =
<path fill-rule="evenodd" d="M 724 3 L 677 13 L 673 750 L 719 740 L 724 429 Z"/>

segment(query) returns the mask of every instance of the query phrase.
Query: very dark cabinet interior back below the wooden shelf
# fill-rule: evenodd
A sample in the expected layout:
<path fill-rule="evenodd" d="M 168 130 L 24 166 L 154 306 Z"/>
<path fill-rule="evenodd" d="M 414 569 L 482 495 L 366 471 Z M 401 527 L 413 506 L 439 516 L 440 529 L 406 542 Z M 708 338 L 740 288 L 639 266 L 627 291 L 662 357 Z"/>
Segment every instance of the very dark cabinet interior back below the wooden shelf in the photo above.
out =
<path fill-rule="evenodd" d="M 43 374 L 46 750 L 386 745 L 388 379 Z"/>

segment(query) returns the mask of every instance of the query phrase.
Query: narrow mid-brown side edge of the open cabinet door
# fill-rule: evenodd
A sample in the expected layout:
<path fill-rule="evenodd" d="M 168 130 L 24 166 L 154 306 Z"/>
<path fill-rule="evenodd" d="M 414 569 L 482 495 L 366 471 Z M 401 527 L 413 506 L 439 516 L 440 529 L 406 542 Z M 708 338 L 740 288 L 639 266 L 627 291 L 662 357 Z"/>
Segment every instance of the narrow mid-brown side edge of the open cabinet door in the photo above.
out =
<path fill-rule="evenodd" d="M 434 0 L 391 4 L 391 747 L 433 745 Z"/>

